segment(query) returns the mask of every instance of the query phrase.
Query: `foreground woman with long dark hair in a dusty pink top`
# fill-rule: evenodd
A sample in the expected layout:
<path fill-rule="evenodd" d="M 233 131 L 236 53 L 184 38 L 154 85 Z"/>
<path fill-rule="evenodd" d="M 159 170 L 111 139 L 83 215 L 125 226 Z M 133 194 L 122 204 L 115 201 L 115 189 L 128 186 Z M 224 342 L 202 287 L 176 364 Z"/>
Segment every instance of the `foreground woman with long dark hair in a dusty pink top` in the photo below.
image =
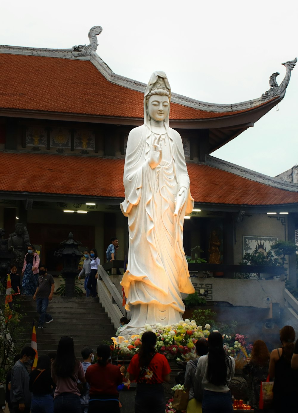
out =
<path fill-rule="evenodd" d="M 56 384 L 54 413 L 80 413 L 80 390 L 77 380 L 84 384 L 86 379 L 82 363 L 75 357 L 72 337 L 61 337 L 51 373 Z"/>

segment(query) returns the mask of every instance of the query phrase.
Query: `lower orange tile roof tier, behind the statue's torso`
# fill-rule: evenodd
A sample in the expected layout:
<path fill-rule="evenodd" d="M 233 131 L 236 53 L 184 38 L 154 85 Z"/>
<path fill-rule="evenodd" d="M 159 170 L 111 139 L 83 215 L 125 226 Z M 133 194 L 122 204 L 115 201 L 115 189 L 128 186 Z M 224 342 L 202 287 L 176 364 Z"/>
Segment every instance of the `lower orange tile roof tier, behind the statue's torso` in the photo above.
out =
<path fill-rule="evenodd" d="M 2 191 L 124 197 L 124 159 L 0 152 L 0 164 L 9 166 L 1 171 Z M 115 170 L 119 178 L 114 178 L 111 185 L 110 173 Z M 94 185 L 82 185 L 82 179 L 90 173 L 96 177 Z M 195 202 L 236 205 L 298 202 L 298 192 L 274 188 L 208 165 L 188 163 L 188 173 Z"/>

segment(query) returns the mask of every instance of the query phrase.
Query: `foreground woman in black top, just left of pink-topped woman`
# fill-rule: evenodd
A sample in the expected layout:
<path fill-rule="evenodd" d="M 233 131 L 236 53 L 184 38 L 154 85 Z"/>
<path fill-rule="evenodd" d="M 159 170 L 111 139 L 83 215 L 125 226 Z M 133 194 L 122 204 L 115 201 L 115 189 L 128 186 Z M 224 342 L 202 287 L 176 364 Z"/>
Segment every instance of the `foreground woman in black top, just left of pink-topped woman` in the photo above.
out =
<path fill-rule="evenodd" d="M 51 359 L 39 356 L 35 370 L 30 373 L 29 390 L 32 393 L 31 413 L 53 413 Z"/>

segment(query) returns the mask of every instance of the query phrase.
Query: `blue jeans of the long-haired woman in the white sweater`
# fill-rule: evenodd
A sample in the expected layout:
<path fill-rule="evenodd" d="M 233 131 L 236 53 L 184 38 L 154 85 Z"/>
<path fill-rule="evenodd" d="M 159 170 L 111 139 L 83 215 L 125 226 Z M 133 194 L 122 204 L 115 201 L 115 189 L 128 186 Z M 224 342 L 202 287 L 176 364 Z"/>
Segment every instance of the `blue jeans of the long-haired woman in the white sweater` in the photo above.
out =
<path fill-rule="evenodd" d="M 202 401 L 203 413 L 232 413 L 231 392 L 211 392 L 204 390 Z"/>

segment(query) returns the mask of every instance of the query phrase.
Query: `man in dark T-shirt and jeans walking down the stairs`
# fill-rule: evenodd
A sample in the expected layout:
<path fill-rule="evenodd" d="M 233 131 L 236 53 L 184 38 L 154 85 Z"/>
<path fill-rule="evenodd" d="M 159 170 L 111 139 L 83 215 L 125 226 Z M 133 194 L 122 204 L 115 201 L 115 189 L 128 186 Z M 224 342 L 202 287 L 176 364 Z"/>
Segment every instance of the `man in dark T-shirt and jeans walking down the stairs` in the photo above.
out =
<path fill-rule="evenodd" d="M 39 272 L 38 287 L 33 295 L 33 300 L 36 301 L 36 311 L 40 314 L 37 327 L 43 328 L 43 323 L 52 323 L 54 321 L 53 317 L 47 314 L 46 311 L 49 301 L 53 298 L 55 284 L 52 275 L 47 273 L 47 266 L 45 264 L 40 266 Z"/>

